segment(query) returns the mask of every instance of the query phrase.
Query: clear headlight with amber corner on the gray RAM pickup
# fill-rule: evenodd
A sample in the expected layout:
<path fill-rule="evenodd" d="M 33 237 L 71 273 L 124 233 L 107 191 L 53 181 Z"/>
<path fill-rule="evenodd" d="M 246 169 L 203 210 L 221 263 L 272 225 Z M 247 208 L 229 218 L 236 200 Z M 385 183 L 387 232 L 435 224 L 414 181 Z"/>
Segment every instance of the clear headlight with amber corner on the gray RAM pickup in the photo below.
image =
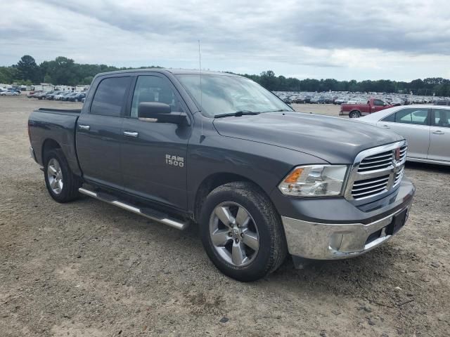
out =
<path fill-rule="evenodd" d="M 294 197 L 335 197 L 342 194 L 347 165 L 297 166 L 278 185 Z"/>

